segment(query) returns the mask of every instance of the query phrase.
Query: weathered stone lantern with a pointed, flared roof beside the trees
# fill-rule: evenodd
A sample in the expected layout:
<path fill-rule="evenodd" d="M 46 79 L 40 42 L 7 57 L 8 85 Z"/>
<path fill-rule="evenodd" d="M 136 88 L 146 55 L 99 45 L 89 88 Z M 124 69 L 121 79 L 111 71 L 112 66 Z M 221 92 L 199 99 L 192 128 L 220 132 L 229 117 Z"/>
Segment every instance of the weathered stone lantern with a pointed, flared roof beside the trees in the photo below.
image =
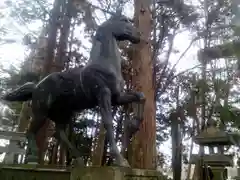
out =
<path fill-rule="evenodd" d="M 211 120 L 209 126 L 204 129 L 199 135 L 194 137 L 194 142 L 201 146 L 217 147 L 218 152 L 211 154 L 204 154 L 203 156 L 193 155 L 190 158 L 190 163 L 201 163 L 205 166 L 210 166 L 213 172 L 213 180 L 227 179 L 226 166 L 233 166 L 233 156 L 223 153 L 225 145 L 239 144 L 239 134 L 227 133 L 217 128 L 216 122 Z M 203 177 L 206 179 L 206 177 Z"/>

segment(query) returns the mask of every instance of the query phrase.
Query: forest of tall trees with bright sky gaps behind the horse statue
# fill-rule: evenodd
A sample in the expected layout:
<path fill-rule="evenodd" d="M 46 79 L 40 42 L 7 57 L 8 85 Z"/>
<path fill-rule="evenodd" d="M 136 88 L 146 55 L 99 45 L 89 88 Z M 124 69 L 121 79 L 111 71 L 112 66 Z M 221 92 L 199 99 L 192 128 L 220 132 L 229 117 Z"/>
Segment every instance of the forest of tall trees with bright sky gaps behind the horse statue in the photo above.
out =
<path fill-rule="evenodd" d="M 186 162 L 192 153 L 199 152 L 192 137 L 207 121 L 217 121 L 219 128 L 225 131 L 239 131 L 240 8 L 237 3 L 229 0 L 1 1 L 1 93 L 29 80 L 37 81 L 50 72 L 84 65 L 97 25 L 110 16 L 109 12 L 120 8 L 123 14 L 135 18 L 135 23 L 137 19 L 140 30 L 149 36 L 149 45 L 143 48 L 151 49 L 140 53 L 134 51 L 138 47 L 120 44 L 126 89 L 138 86 L 134 82 L 137 75 L 131 73 L 139 65 L 137 57 L 149 62 L 144 71 L 150 76 L 140 76 L 138 80 L 142 84 L 151 83 L 146 84 L 151 87 L 146 96 L 153 103 L 147 104 L 150 111 L 145 113 L 145 118 L 156 124 L 145 124 L 149 129 L 145 132 L 149 139 L 145 141 L 153 142 L 151 148 L 156 149 L 155 153 L 152 151 L 155 161 L 138 162 L 135 158 L 132 163 L 141 167 L 158 166 L 169 172 L 172 155 L 170 127 L 175 119 L 182 122 L 182 152 Z M 138 13 L 141 8 L 147 11 L 144 15 Z M 219 47 L 231 51 L 219 54 Z M 148 92 L 146 88 L 144 90 Z M 128 118 L 126 112 L 126 107 L 119 108 L 115 116 L 116 140 L 119 142 L 123 136 L 123 122 Z M 93 119 L 89 119 L 89 113 Z M 24 131 L 29 116 L 27 104 L 1 102 L 0 116 L 2 130 Z M 76 144 L 86 155 L 86 161 L 107 162 L 107 157 L 96 157 L 92 150 L 100 148 L 107 152 L 99 135 L 102 129 L 98 113 L 84 112 L 74 120 L 75 133 L 71 138 L 78 142 Z M 96 144 L 100 142 L 103 145 L 99 147 Z M 49 163 L 63 163 L 61 157 L 53 158 L 56 147 L 61 144 L 50 138 L 42 159 L 48 154 Z M 234 153 L 236 158 L 239 156 L 238 147 L 226 152 Z M 64 153 L 62 150 L 60 154 Z M 187 167 L 187 176 L 189 171 Z"/>

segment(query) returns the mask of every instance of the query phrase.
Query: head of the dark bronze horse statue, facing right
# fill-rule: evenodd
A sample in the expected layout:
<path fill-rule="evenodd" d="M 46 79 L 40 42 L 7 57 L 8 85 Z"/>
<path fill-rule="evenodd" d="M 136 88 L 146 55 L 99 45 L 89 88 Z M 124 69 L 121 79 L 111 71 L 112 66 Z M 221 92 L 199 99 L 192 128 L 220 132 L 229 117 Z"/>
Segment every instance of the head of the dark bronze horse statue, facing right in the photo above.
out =
<path fill-rule="evenodd" d="M 133 22 L 124 15 L 113 15 L 99 26 L 99 30 L 111 33 L 117 41 L 128 40 L 134 44 L 140 42 L 140 32 L 133 25 Z"/>

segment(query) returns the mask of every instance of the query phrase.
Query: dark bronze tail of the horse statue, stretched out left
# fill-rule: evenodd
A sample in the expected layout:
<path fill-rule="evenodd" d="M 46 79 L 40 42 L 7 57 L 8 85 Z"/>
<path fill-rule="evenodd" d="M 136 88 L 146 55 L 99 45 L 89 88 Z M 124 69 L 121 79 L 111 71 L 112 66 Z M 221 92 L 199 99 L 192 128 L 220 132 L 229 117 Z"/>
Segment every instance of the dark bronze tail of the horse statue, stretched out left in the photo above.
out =
<path fill-rule="evenodd" d="M 2 96 L 5 101 L 28 101 L 32 99 L 32 93 L 35 89 L 35 84 L 32 82 L 25 83 L 18 89 Z"/>

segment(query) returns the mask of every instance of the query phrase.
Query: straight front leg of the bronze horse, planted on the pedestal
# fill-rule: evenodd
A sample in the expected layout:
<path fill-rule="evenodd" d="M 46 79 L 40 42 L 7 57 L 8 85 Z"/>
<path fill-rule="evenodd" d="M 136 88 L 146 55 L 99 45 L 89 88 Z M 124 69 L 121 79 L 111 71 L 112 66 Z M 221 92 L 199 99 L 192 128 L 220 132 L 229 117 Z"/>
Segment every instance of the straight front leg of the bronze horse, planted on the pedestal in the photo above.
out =
<path fill-rule="evenodd" d="M 111 106 L 111 91 L 108 88 L 102 88 L 98 94 L 98 102 L 100 106 L 100 112 L 102 116 L 102 121 L 104 128 L 106 129 L 106 136 L 110 146 L 110 152 L 115 158 L 116 165 L 123 167 L 130 167 L 129 163 L 123 156 L 120 154 L 120 151 L 117 148 L 117 143 L 114 138 L 114 129 L 113 129 L 113 117 L 112 117 L 112 106 Z"/>

